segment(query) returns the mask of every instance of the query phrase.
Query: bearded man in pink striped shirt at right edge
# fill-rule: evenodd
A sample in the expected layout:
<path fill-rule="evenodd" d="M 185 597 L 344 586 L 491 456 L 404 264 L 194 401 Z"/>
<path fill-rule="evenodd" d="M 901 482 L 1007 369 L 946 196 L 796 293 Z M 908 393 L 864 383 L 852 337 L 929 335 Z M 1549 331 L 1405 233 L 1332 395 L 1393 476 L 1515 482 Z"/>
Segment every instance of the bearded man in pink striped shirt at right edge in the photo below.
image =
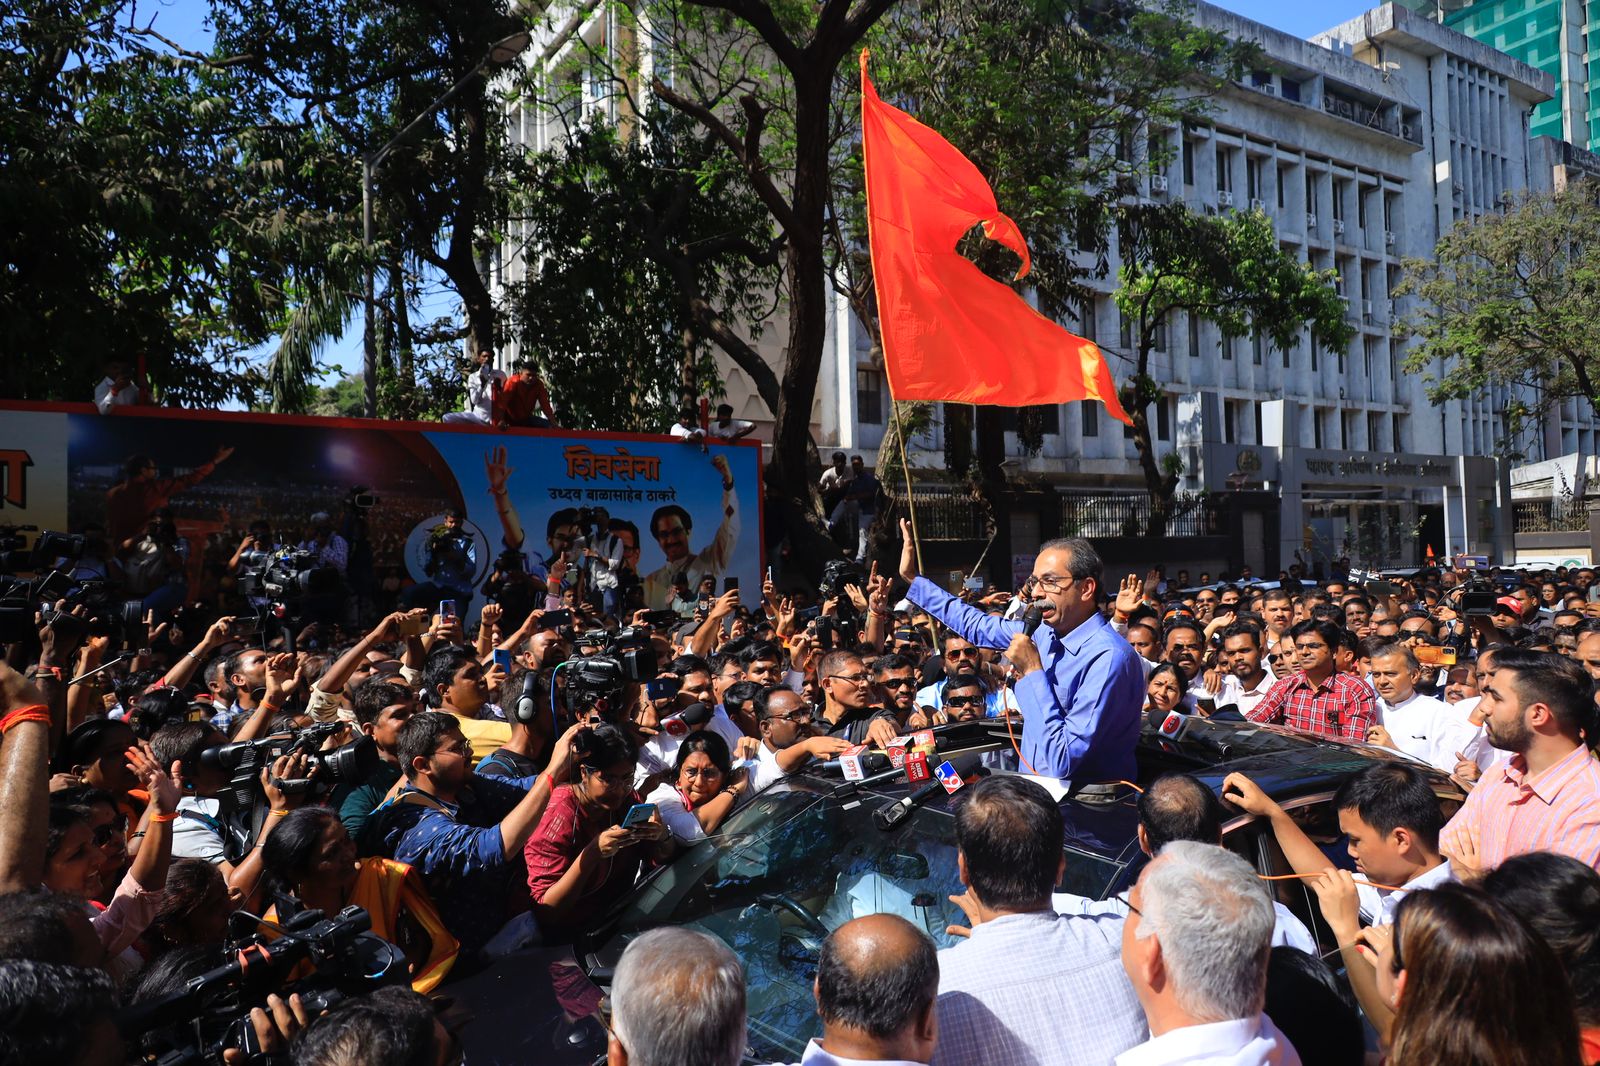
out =
<path fill-rule="evenodd" d="M 1558 852 L 1600 866 L 1600 762 L 1589 751 L 1594 682 L 1573 659 L 1496 648 L 1482 687 L 1483 727 L 1512 752 L 1478 781 L 1445 826 L 1458 871 L 1491 869 L 1512 855 Z"/>

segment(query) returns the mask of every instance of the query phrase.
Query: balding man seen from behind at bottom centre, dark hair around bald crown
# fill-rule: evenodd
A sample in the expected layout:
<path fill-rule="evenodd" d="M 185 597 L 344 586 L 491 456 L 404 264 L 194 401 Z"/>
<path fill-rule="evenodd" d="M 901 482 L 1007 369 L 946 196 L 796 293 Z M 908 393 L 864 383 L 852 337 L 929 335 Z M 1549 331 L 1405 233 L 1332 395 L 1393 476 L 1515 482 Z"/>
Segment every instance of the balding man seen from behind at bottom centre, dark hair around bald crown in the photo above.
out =
<path fill-rule="evenodd" d="M 822 941 L 816 965 L 822 1039 L 794 1066 L 926 1066 L 939 1037 L 939 956 L 896 914 L 845 922 Z"/>

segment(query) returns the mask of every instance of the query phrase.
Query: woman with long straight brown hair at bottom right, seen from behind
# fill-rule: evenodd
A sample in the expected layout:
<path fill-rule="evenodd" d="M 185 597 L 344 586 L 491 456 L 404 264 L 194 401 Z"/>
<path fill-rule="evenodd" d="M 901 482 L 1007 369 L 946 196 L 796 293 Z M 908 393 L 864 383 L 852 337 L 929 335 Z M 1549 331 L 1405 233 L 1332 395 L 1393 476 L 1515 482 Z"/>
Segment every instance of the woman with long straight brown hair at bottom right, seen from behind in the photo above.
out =
<path fill-rule="evenodd" d="M 1573 1066 L 1578 1021 L 1562 964 L 1510 908 L 1466 885 L 1406 893 L 1362 930 L 1395 1004 L 1387 1066 Z"/>

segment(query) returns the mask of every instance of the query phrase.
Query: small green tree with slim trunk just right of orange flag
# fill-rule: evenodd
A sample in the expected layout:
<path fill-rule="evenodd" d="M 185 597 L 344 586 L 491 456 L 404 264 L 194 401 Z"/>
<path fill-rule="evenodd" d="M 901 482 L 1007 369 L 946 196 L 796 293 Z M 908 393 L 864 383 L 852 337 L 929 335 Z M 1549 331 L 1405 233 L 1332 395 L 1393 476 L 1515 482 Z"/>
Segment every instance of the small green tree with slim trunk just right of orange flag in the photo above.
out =
<path fill-rule="evenodd" d="M 1120 391 L 1133 418 L 1133 443 L 1150 495 L 1150 533 L 1165 531 L 1181 466 L 1163 464 L 1150 437 L 1149 407 L 1160 399 L 1150 352 L 1174 314 L 1216 323 L 1227 339 L 1259 333 L 1278 349 L 1304 330 L 1344 349 L 1355 336 L 1334 287 L 1336 271 L 1315 271 L 1278 245 L 1262 211 L 1197 214 L 1181 205 L 1122 211 L 1122 269 L 1115 301 L 1134 330 L 1136 365 Z"/>

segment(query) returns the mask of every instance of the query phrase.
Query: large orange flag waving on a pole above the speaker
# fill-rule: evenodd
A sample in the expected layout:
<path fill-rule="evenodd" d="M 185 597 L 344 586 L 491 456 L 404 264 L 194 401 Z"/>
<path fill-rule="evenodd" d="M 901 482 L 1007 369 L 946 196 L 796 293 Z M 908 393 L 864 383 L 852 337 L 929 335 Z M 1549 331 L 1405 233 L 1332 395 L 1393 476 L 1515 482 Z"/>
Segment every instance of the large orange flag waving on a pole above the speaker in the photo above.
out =
<path fill-rule="evenodd" d="M 1117 402 L 1110 367 L 1093 341 L 1067 333 L 955 251 L 974 224 L 1022 256 L 1027 242 L 1000 213 L 971 160 L 904 110 L 878 99 L 861 53 L 861 154 L 867 235 L 878 290 L 883 365 L 896 400 L 1027 407 Z"/>

